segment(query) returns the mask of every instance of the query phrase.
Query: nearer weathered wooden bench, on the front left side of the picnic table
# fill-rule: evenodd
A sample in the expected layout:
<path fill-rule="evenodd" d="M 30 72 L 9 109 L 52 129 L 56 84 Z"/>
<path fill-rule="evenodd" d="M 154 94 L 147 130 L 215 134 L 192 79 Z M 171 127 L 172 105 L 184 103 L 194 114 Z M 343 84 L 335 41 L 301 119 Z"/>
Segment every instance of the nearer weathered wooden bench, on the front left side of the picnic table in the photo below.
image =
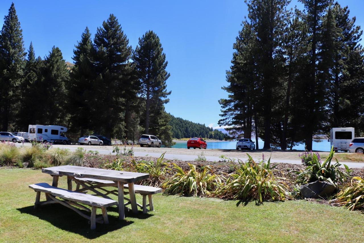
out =
<path fill-rule="evenodd" d="M 91 229 L 96 228 L 96 222 L 98 223 L 104 223 L 108 224 L 108 217 L 107 217 L 107 207 L 118 205 L 117 201 L 108 199 L 108 198 L 102 198 L 102 197 L 96 197 L 92 196 L 90 194 L 84 194 L 80 192 L 73 192 L 71 190 L 66 190 L 62 188 L 57 188 L 55 186 L 50 186 L 47 183 L 38 183 L 38 184 L 32 184 L 29 185 L 29 188 L 33 189 L 37 194 L 35 197 L 35 204 L 34 208 L 37 208 L 39 205 L 46 205 L 46 204 L 52 204 L 52 203 L 59 203 L 67 208 L 72 209 L 76 213 L 78 213 L 80 216 L 88 219 L 91 221 Z M 46 194 L 47 198 L 50 198 L 51 200 L 42 201 L 40 202 L 40 193 L 44 192 Z M 63 200 L 59 200 L 56 197 L 59 197 Z M 84 207 L 82 204 L 86 204 L 91 206 L 91 210 L 87 207 Z M 91 216 L 88 216 L 81 212 L 76 207 L 81 208 L 83 210 L 86 210 L 87 212 L 91 212 Z M 102 210 L 102 217 L 96 218 L 96 208 L 101 208 Z"/>

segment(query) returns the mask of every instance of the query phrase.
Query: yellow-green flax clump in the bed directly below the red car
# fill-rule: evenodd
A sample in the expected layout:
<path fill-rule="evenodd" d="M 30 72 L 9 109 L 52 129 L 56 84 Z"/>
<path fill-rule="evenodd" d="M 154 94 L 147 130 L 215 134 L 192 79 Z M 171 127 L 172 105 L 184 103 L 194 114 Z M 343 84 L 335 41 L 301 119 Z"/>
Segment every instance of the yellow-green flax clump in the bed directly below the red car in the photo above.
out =
<path fill-rule="evenodd" d="M 176 173 L 162 185 L 162 188 L 165 188 L 165 193 L 206 196 L 221 183 L 220 178 L 213 173 L 210 166 L 204 166 L 203 170 L 199 172 L 196 170 L 195 165 L 190 163 L 188 165 L 190 170 L 185 172 L 181 167 L 173 163 L 172 171 L 175 170 Z"/>

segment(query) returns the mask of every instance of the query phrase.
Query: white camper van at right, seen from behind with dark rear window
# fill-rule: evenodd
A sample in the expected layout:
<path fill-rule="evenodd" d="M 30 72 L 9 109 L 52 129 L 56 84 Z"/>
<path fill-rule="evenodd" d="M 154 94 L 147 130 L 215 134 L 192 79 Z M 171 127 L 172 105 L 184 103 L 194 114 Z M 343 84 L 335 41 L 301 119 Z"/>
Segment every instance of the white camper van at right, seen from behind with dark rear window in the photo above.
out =
<path fill-rule="evenodd" d="M 335 127 L 330 131 L 330 147 L 334 147 L 333 150 L 349 151 L 349 144 L 354 138 L 353 127 Z"/>

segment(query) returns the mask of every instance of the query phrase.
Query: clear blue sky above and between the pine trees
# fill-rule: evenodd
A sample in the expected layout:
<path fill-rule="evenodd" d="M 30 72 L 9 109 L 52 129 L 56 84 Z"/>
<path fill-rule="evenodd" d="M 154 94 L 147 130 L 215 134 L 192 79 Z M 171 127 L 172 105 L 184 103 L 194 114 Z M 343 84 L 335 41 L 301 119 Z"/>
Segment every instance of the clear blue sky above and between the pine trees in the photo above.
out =
<path fill-rule="evenodd" d="M 88 26 L 92 35 L 110 13 L 118 18 L 130 45 L 153 30 L 161 39 L 171 76 L 172 90 L 166 111 L 194 122 L 217 126 L 218 99 L 227 96 L 225 71 L 230 67 L 233 43 L 247 14 L 243 0 L 14 0 L 23 29 L 24 45 L 32 41 L 42 58 L 58 46 L 66 61 L 72 62 L 73 49 Z M 11 0 L 0 1 L 0 24 Z M 364 26 L 364 1 L 339 0 L 348 5 L 357 25 Z M 290 7 L 297 4 L 292 0 Z M 300 7 L 301 4 L 298 4 Z M 199 102 L 199 105 L 196 104 Z"/>

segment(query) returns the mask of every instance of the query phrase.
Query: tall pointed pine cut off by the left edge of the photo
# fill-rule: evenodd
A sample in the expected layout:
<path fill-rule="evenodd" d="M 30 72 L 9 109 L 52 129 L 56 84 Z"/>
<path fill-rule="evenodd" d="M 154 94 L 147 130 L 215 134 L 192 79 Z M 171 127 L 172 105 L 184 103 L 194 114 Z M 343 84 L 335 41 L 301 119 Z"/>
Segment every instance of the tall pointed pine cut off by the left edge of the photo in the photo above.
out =
<path fill-rule="evenodd" d="M 12 3 L 0 35 L 0 121 L 3 131 L 8 131 L 19 109 L 19 87 L 23 82 L 25 67 L 24 50 L 20 22 Z"/>

